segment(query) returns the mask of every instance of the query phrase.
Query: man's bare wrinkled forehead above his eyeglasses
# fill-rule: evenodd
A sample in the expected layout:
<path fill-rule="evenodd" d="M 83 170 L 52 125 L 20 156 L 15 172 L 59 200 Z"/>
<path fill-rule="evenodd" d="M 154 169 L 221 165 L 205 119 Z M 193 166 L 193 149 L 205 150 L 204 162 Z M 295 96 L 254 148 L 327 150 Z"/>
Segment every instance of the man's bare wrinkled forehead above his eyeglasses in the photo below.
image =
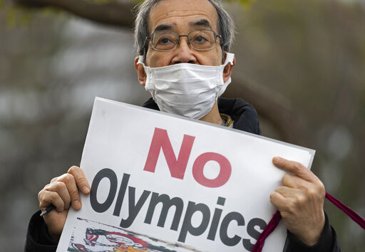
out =
<path fill-rule="evenodd" d="M 157 26 L 180 29 L 205 23 L 217 32 L 217 19 L 215 6 L 208 0 L 161 0 L 150 11 L 148 30 L 152 33 Z"/>

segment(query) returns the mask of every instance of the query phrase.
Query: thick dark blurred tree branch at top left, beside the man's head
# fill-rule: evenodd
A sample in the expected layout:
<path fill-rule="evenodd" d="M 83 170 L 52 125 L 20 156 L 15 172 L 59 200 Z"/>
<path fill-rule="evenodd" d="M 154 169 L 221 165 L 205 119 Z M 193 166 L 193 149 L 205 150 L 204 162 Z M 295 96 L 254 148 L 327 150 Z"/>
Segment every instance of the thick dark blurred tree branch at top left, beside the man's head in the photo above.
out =
<path fill-rule="evenodd" d="M 135 4 L 131 2 L 106 4 L 93 4 L 84 0 L 14 0 L 14 2 L 34 9 L 51 6 L 98 23 L 118 27 L 133 27 L 132 9 Z"/>

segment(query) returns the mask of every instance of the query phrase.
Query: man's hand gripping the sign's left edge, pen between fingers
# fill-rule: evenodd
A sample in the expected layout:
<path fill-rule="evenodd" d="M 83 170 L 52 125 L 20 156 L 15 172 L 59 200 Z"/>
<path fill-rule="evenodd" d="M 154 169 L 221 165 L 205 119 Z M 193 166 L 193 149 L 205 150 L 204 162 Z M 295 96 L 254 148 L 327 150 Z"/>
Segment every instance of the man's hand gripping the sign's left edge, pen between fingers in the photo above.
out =
<path fill-rule="evenodd" d="M 38 193 L 39 207 L 43 211 L 47 206 L 53 204 L 56 209 L 43 215 L 48 228 L 48 234 L 52 240 L 58 242 L 63 226 L 66 222 L 68 209 L 72 205 L 73 209 L 81 208 L 78 189 L 83 194 L 90 192 L 85 175 L 80 167 L 73 166 L 68 172 L 60 177 L 55 177 Z"/>

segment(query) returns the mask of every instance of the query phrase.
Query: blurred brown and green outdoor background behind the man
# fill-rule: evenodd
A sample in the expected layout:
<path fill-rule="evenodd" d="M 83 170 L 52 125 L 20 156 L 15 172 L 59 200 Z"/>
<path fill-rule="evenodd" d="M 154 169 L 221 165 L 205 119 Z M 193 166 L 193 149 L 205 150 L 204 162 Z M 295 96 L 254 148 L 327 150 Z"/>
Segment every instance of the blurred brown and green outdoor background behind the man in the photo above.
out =
<path fill-rule="evenodd" d="M 237 24 L 223 96 L 252 103 L 262 135 L 316 149 L 327 191 L 365 216 L 365 1 L 223 2 Z M 126 21 L 62 3 L 0 0 L 1 251 L 23 250 L 38 191 L 79 164 L 94 98 L 149 98 L 133 67 L 135 2 L 111 3 Z M 342 250 L 364 251 L 364 230 L 325 210 Z"/>

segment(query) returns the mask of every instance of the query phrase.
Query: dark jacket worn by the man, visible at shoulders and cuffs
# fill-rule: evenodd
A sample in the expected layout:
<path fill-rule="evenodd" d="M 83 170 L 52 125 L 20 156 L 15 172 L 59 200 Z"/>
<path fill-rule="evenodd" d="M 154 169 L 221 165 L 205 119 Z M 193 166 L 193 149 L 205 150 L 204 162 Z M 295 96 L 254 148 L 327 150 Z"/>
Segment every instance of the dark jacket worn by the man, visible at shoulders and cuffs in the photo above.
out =
<path fill-rule="evenodd" d="M 143 104 L 153 110 L 159 110 L 158 105 L 152 98 Z M 257 112 L 252 105 L 242 99 L 219 98 L 218 108 L 221 113 L 230 115 L 233 122 L 233 128 L 244 130 L 246 132 L 261 134 L 259 129 L 259 119 Z M 36 212 L 29 222 L 28 233 L 26 234 L 26 246 L 24 251 L 34 252 L 51 252 L 56 251 L 57 244 L 51 241 L 48 236 L 46 224 L 43 218 L 39 216 L 41 211 Z M 326 222 L 322 231 L 319 243 L 314 246 L 307 246 L 292 233 L 287 231 L 287 241 L 284 246 L 284 252 L 337 252 L 340 251 L 337 243 L 336 232 L 329 225 L 329 219 L 326 214 Z"/>

